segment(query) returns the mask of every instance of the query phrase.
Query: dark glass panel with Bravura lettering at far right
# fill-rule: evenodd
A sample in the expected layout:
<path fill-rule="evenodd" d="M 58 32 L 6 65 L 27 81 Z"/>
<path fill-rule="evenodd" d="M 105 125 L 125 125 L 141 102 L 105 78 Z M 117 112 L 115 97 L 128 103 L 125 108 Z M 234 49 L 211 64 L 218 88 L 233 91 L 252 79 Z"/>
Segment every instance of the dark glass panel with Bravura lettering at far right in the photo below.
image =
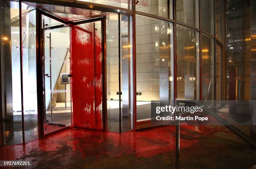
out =
<path fill-rule="evenodd" d="M 251 25 L 253 7 L 251 1 L 226 1 L 226 35 L 225 35 L 225 58 L 226 58 L 226 99 L 227 100 L 251 100 L 254 98 L 254 88 L 251 88 L 253 76 L 253 60 L 251 44 L 255 37 Z M 252 66 L 251 66 L 252 65 Z"/>

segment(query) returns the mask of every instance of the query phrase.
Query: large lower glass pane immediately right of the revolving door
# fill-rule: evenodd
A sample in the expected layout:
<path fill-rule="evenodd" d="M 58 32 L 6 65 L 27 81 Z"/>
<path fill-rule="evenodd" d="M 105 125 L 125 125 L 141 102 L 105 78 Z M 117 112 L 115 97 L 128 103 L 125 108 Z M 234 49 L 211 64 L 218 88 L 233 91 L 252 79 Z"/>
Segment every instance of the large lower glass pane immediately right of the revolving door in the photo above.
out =
<path fill-rule="evenodd" d="M 143 121 L 151 119 L 152 100 L 174 98 L 173 25 L 141 15 L 136 20 L 137 121 Z"/>

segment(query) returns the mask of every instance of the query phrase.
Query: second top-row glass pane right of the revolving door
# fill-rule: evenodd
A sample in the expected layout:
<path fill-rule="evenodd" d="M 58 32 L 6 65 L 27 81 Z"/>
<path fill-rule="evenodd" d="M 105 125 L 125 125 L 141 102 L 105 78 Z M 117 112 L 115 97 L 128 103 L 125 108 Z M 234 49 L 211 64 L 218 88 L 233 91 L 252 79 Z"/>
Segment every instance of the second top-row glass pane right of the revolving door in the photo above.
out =
<path fill-rule="evenodd" d="M 176 20 L 199 28 L 198 0 L 176 0 Z"/>

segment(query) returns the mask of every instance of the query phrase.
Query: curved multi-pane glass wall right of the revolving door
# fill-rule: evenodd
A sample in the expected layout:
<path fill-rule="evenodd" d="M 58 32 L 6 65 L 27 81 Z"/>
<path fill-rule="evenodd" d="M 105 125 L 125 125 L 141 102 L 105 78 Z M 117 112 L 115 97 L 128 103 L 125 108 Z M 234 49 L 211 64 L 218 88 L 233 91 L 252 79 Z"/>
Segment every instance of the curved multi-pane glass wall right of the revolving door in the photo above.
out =
<path fill-rule="evenodd" d="M 172 3 L 167 8 L 162 6 L 161 10 L 169 9 L 169 14 L 174 11 L 174 20 L 177 22 L 174 25 L 176 41 L 172 41 L 172 33 L 168 34 L 167 29 L 165 38 L 170 39 L 165 40 L 165 43 L 161 43 L 161 33 L 166 28 L 162 23 L 169 24 L 172 32 L 173 21 L 169 20 L 172 16 L 161 13 L 157 5 L 154 6 L 152 1 L 150 3 L 151 6 L 148 5 L 147 8 L 136 5 L 136 129 L 151 126 L 145 125 L 146 121 L 150 123 L 151 120 L 151 101 L 174 98 L 205 100 L 207 105 L 213 108 L 214 100 L 223 99 L 223 2 L 175 0 L 174 6 Z M 160 4 L 160 0 L 155 4 Z M 215 34 L 219 40 L 218 53 L 215 52 Z M 169 54 L 161 52 L 164 51 L 161 46 L 163 44 L 170 47 Z M 172 49 L 172 46 L 175 48 Z M 176 53 L 175 64 L 172 50 Z M 169 64 L 166 70 L 175 70 L 175 76 L 170 73 L 169 86 L 161 86 L 162 80 L 165 79 L 161 77 L 165 73 L 156 67 L 161 63 L 161 57 L 167 55 Z M 173 88 L 172 83 L 175 83 Z M 165 95 L 161 95 L 161 91 L 165 91 Z M 167 95 L 170 96 L 169 99 L 164 97 Z"/>

